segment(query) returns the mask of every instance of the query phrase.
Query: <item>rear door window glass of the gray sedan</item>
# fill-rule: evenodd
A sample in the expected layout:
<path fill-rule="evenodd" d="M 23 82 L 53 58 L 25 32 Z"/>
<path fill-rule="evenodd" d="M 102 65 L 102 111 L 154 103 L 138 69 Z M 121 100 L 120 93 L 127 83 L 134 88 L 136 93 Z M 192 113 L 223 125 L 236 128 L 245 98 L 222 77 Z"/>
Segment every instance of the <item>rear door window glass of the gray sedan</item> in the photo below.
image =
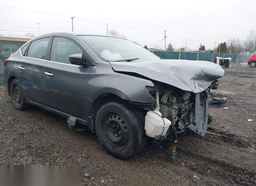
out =
<path fill-rule="evenodd" d="M 42 38 L 31 43 L 28 48 L 28 57 L 45 59 L 46 49 L 50 38 Z"/>

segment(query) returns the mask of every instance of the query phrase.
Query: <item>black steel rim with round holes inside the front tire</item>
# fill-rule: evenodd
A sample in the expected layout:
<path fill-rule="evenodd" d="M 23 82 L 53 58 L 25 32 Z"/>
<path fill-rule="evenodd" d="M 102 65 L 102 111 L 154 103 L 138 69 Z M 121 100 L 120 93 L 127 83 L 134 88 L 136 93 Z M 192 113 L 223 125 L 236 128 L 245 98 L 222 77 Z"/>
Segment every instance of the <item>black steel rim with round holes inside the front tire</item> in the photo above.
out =
<path fill-rule="evenodd" d="M 107 135 L 117 146 L 123 146 L 128 142 L 129 131 L 123 117 L 118 114 L 110 115 L 106 123 Z"/>

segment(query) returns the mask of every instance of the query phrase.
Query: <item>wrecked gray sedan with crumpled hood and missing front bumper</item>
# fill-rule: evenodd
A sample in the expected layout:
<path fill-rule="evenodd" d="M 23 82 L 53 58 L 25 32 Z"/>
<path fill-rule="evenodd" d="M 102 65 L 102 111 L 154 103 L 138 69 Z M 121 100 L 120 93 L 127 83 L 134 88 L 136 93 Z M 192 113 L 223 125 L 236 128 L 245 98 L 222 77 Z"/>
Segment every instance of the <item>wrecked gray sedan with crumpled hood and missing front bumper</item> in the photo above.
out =
<path fill-rule="evenodd" d="M 147 139 L 192 130 L 204 136 L 220 65 L 160 59 L 122 38 L 51 33 L 28 41 L 4 61 L 5 84 L 18 110 L 36 105 L 81 123 L 117 158 L 138 154 Z"/>

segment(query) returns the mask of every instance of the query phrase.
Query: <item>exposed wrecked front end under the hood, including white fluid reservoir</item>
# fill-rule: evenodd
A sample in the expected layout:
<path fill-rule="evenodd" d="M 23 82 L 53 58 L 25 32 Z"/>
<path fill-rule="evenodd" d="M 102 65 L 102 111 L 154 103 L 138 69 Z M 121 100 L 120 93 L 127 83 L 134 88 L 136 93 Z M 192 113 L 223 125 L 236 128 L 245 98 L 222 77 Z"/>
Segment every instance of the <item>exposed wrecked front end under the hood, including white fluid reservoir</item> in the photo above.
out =
<path fill-rule="evenodd" d="M 158 140 L 167 136 L 176 139 L 178 133 L 190 129 L 204 136 L 209 121 L 209 108 L 224 107 L 227 103 L 227 98 L 216 98 L 210 92 L 210 89 L 217 89 L 216 82 L 200 93 L 182 91 L 175 87 L 154 87 L 150 90 L 150 94 L 156 99 L 156 107 L 153 111 L 148 111 L 145 117 L 146 135 Z"/>

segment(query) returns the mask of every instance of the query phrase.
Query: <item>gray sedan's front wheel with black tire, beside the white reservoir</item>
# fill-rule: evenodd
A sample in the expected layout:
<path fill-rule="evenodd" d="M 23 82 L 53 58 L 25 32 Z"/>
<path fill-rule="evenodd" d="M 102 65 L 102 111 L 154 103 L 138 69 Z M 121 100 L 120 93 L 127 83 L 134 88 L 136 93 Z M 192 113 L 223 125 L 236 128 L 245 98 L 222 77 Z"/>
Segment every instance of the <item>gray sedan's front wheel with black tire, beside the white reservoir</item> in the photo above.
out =
<path fill-rule="evenodd" d="M 120 159 L 134 157 L 145 146 L 144 123 L 126 105 L 109 102 L 96 116 L 96 134 L 102 146 Z"/>

